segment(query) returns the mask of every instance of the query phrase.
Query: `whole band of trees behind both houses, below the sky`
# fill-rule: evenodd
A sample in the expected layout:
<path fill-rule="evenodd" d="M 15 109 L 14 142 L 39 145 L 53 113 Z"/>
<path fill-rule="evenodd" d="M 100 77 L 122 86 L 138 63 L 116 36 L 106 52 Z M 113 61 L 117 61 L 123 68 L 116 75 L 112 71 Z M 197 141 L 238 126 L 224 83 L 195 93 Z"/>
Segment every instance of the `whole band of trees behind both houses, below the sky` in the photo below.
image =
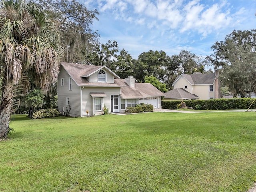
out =
<path fill-rule="evenodd" d="M 62 46 L 65 49 L 64 62 L 107 66 L 120 78 L 132 75 L 138 82 L 146 76 L 166 84 L 168 90 L 177 75 L 193 72 L 210 73 L 211 67 L 220 70 L 222 86 L 233 96 L 245 96 L 256 92 L 255 86 L 255 35 L 254 29 L 234 30 L 224 41 L 211 47 L 214 54 L 198 56 L 188 50 L 168 56 L 163 50 L 142 52 L 138 58 L 118 47 L 118 42 L 108 40 L 100 44 L 98 31 L 91 25 L 98 20 L 97 10 L 88 10 L 76 0 L 34 0 L 57 23 Z M 242 69 L 241 69 L 242 68 Z"/>

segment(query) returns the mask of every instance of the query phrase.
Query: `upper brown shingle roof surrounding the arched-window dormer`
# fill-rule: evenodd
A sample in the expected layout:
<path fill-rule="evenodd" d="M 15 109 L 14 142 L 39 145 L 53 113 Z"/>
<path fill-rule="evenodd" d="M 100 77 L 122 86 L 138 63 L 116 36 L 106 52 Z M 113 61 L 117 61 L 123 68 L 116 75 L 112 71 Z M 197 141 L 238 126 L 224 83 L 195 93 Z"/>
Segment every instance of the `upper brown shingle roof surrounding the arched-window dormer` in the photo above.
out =
<path fill-rule="evenodd" d="M 98 72 L 101 69 L 107 70 L 108 72 L 114 75 L 114 78 L 119 78 L 114 72 L 112 72 L 106 66 L 95 66 L 95 65 L 83 65 L 83 64 L 76 64 L 76 63 L 65 63 L 61 62 L 61 66 L 66 70 L 66 72 L 72 77 L 72 79 L 76 82 L 78 86 L 117 86 L 116 84 L 112 83 L 92 83 L 86 80 L 86 78 L 95 72 Z"/>

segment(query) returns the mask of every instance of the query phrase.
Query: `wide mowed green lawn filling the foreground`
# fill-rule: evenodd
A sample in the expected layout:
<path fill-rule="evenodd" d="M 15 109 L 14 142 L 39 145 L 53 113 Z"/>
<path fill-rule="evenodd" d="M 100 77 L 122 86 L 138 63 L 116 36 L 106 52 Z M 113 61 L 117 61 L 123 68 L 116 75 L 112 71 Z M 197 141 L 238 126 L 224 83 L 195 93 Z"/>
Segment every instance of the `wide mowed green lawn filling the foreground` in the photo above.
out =
<path fill-rule="evenodd" d="M 256 181 L 255 112 L 16 115 L 10 126 L 3 192 L 246 192 Z"/>

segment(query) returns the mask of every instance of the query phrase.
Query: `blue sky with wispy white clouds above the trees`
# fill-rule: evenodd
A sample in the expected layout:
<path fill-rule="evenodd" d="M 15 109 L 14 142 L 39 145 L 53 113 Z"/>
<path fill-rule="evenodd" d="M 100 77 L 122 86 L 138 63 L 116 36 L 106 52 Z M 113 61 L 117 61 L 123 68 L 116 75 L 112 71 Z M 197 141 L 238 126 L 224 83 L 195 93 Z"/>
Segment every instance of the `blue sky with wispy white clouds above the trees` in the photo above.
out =
<path fill-rule="evenodd" d="M 255 0 L 80 0 L 97 9 L 100 43 L 116 40 L 137 59 L 142 52 L 163 50 L 167 55 L 188 50 L 210 55 L 210 47 L 232 30 L 256 28 Z"/>

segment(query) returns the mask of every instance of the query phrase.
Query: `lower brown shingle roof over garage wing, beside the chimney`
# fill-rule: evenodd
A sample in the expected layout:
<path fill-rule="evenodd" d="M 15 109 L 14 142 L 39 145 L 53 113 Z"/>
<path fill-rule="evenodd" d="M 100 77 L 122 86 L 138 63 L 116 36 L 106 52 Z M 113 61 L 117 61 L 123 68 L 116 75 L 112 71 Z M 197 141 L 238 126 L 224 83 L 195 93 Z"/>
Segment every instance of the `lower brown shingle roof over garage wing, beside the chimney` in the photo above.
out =
<path fill-rule="evenodd" d="M 150 83 L 135 83 L 135 87 L 130 87 L 124 79 L 115 79 L 115 82 L 121 87 L 121 97 L 123 99 L 165 96 Z"/>

